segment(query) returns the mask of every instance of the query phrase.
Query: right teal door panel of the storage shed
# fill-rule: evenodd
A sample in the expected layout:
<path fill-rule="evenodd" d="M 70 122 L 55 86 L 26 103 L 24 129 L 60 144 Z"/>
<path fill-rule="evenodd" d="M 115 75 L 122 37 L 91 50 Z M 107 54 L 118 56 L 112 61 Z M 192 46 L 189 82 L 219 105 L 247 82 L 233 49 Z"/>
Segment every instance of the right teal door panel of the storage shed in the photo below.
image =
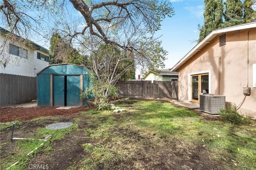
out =
<path fill-rule="evenodd" d="M 67 106 L 80 106 L 80 76 L 67 76 Z"/>

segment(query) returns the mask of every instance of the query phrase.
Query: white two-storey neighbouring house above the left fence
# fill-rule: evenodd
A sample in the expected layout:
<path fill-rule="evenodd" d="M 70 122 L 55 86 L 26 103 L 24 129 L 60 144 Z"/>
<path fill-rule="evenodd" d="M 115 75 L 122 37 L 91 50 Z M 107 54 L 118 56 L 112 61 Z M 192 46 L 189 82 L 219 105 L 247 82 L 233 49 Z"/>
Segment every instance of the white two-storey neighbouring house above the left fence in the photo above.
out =
<path fill-rule="evenodd" d="M 49 64 L 49 50 L 30 41 L 23 47 L 22 41 L 6 40 L 8 33 L 8 30 L 0 27 L 2 50 L 0 60 L 5 60 L 8 57 L 9 61 L 5 68 L 0 63 L 0 73 L 36 77 L 36 73 Z M 5 41 L 6 44 L 3 47 Z"/>

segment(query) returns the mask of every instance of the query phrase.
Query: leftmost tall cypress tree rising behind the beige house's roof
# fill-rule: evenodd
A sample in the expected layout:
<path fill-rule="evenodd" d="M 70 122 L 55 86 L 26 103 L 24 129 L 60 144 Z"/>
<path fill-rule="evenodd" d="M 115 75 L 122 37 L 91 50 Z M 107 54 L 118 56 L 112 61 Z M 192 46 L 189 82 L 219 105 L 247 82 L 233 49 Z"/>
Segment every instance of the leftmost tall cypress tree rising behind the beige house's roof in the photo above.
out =
<path fill-rule="evenodd" d="M 203 40 L 212 30 L 222 27 L 222 0 L 204 0 L 204 26 L 200 29 L 199 40 Z"/>

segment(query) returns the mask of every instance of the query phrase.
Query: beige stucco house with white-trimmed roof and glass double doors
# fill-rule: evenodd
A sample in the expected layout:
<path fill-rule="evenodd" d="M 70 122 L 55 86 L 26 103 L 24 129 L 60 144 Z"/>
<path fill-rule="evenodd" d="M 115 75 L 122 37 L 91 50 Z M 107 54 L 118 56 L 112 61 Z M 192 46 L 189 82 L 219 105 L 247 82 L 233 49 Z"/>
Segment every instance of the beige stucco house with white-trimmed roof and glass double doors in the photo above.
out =
<path fill-rule="evenodd" d="M 212 31 L 171 71 L 179 73 L 180 101 L 224 95 L 240 114 L 256 117 L 256 22 Z"/>

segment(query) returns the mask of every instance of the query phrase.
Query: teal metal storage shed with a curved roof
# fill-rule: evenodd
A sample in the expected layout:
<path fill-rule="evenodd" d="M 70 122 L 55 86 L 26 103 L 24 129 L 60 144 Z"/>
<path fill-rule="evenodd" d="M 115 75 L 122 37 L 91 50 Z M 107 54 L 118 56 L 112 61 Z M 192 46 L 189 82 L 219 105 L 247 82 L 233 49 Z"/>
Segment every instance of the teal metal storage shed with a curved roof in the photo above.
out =
<path fill-rule="evenodd" d="M 88 106 L 80 95 L 90 88 L 90 71 L 81 65 L 54 64 L 37 73 L 38 106 Z M 91 95 L 89 99 L 92 99 Z"/>

